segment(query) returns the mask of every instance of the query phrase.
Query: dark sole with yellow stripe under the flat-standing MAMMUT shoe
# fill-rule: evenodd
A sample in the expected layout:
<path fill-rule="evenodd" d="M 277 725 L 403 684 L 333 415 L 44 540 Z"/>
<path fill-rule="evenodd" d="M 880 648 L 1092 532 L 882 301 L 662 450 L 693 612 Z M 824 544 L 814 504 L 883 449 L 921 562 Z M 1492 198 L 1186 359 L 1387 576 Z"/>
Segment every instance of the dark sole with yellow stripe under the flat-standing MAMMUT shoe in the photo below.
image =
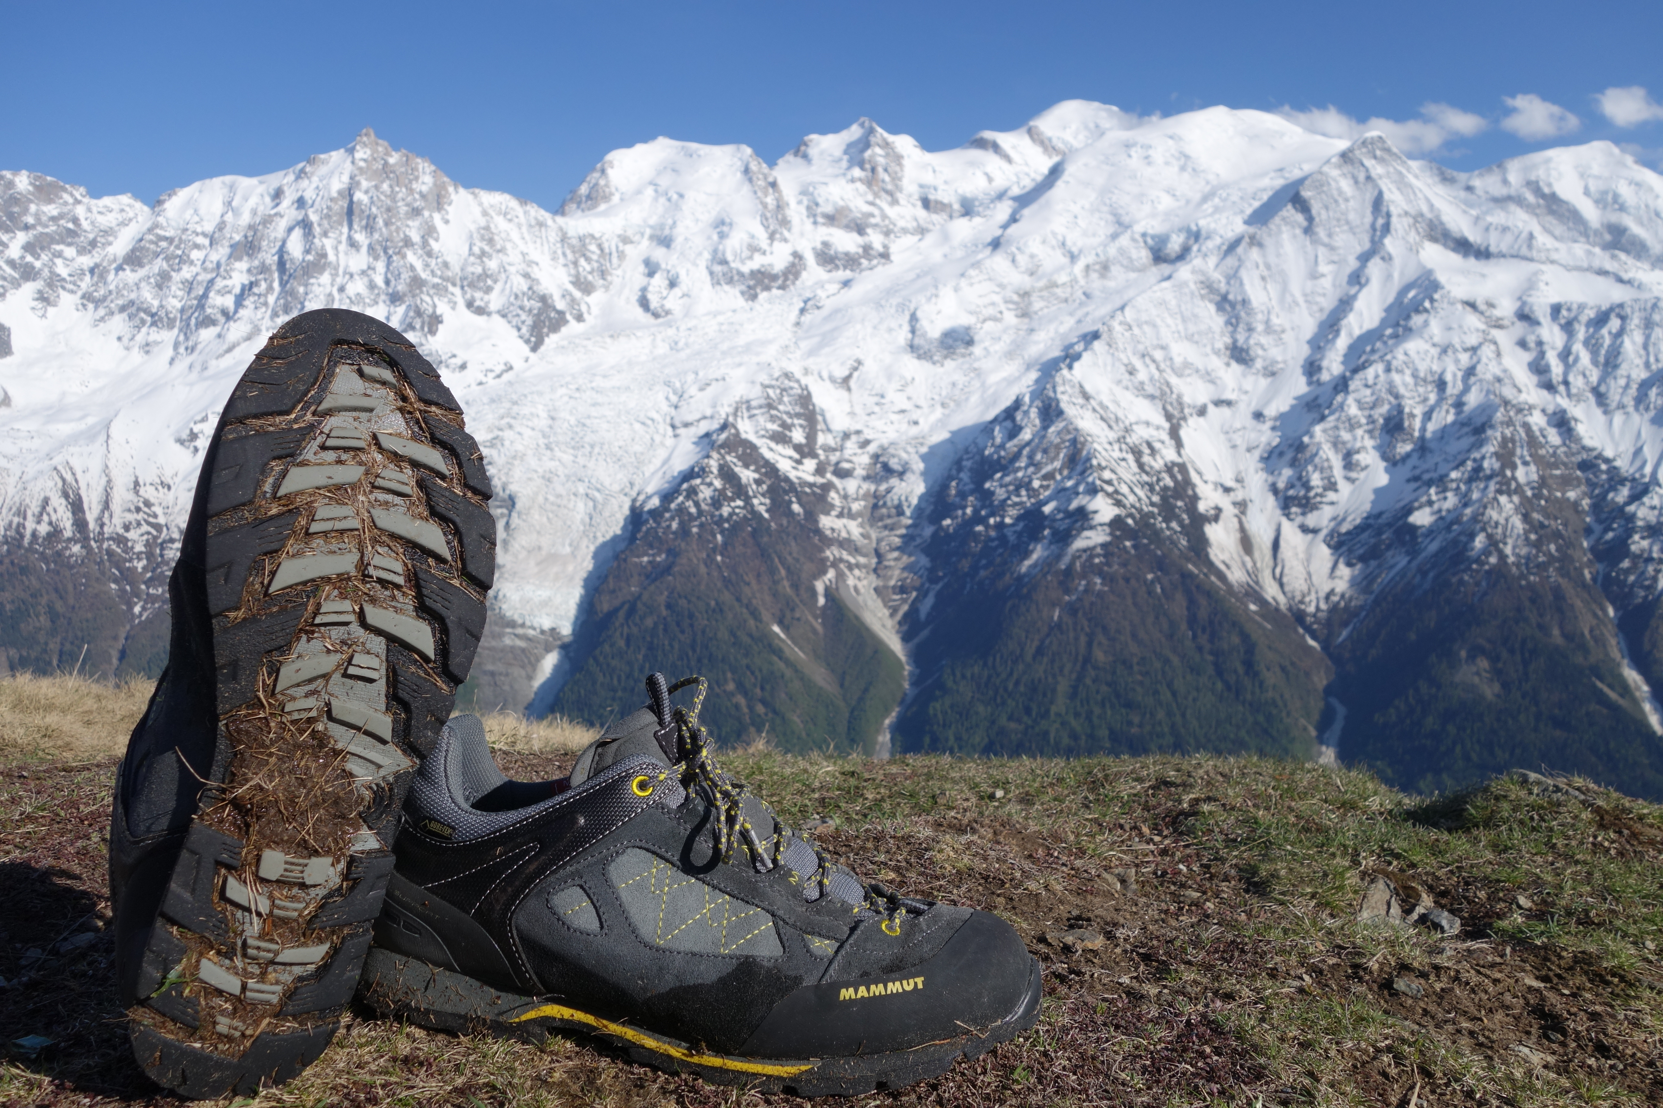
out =
<path fill-rule="evenodd" d="M 763 1093 L 860 1096 L 895 1090 L 941 1073 L 960 1058 L 978 1058 L 1039 1020 L 1039 962 L 1033 960 L 1023 1002 L 981 1032 L 913 1050 L 843 1058 L 740 1058 L 698 1050 L 667 1035 L 614 1023 L 547 997 L 517 997 L 421 958 L 369 950 L 359 998 L 376 1012 L 441 1032 L 489 1032 L 540 1043 L 552 1032 L 602 1040 L 625 1057 L 670 1073 L 697 1073 L 718 1085 L 745 1085 Z"/>

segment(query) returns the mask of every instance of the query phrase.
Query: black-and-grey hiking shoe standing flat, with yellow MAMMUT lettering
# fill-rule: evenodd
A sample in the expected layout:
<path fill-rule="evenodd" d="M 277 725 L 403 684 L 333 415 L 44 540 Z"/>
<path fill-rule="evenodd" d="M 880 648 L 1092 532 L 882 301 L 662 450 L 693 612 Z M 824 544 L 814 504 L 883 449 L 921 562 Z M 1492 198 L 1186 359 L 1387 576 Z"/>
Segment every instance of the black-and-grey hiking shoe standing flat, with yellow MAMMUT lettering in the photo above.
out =
<path fill-rule="evenodd" d="M 404 806 L 371 1007 L 587 1032 L 803 1096 L 898 1088 L 1033 1027 L 1039 962 L 1008 924 L 863 885 L 715 764 L 703 679 L 647 688 L 562 781 L 504 779 L 479 721 L 449 723 Z"/>

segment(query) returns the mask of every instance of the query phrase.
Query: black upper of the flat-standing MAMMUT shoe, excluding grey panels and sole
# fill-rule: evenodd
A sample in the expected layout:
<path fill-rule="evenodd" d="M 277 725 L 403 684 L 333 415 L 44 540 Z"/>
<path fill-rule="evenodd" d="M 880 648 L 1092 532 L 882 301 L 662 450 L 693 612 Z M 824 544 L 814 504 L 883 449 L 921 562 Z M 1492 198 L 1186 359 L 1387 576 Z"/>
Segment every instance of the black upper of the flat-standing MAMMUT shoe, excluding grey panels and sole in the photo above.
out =
<path fill-rule="evenodd" d="M 397 879 L 376 944 L 487 985 L 537 995 L 725 1053 L 823 1057 L 898 1050 L 1008 1017 L 1026 995 L 1031 958 L 1003 920 L 931 905 L 885 929 L 835 897 L 803 900 L 792 870 L 758 874 L 743 852 L 713 857 L 697 796 L 680 806 L 637 797 L 630 781 L 662 769 L 625 757 L 499 834 L 447 842 L 407 811 Z M 780 954 L 692 954 L 637 934 L 609 877 L 647 851 L 773 920 Z M 580 885 L 599 932 L 562 922 L 550 897 Z M 817 955 L 808 935 L 836 944 Z M 863 982 L 916 978 L 893 995 L 841 1000 Z"/>

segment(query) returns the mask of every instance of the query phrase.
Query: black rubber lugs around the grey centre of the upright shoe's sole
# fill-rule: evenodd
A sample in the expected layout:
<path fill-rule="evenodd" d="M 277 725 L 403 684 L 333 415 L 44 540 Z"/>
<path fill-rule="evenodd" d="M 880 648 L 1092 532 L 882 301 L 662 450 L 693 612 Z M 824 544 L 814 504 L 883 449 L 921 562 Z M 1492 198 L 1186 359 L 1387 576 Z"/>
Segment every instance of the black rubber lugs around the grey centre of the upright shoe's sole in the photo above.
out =
<path fill-rule="evenodd" d="M 258 513 L 268 503 L 263 498 L 261 482 L 273 462 L 306 453 L 308 444 L 326 427 L 331 432 L 339 427 L 339 424 L 328 422 L 326 410 L 311 407 L 318 400 L 318 390 L 326 384 L 326 374 L 334 372 L 331 367 L 336 364 L 368 365 L 371 362 L 391 364 L 396 382 L 384 372 L 374 374 L 373 379 L 382 387 L 391 387 L 392 404 L 412 432 L 421 434 L 424 427 L 446 429 L 442 435 L 432 435 L 432 445 L 424 444 L 422 450 L 441 463 L 441 449 L 456 455 L 464 483 L 474 490 L 461 493 L 441 480 L 427 478 L 422 482 L 422 492 L 434 522 L 414 513 L 411 518 L 419 520 L 436 537 L 441 535 L 441 527 L 436 523 L 449 525 L 457 535 L 462 573 L 482 586 L 489 586 L 494 578 L 496 520 L 474 498 L 477 495 L 476 485 L 482 485 L 486 490 L 482 495 L 489 497 L 489 480 L 477 444 L 454 429 L 447 419 L 434 415 L 436 409 L 442 409 L 447 414 L 456 414 L 459 422 L 456 397 L 439 379 L 432 364 L 397 331 L 368 316 L 324 309 L 294 317 L 254 357 L 233 390 L 210 449 L 203 485 L 198 487 L 198 505 L 206 517 L 238 513 L 223 520 L 228 523 L 234 520 L 233 527 L 206 533 L 201 540 L 206 601 L 210 615 L 216 616 L 213 650 L 216 714 L 221 719 L 246 709 L 254 699 L 273 653 L 286 655 L 296 646 L 313 600 L 323 588 L 321 583 L 296 581 L 293 596 L 299 603 L 291 601 L 289 593 L 268 596 L 269 590 L 259 590 L 258 598 L 251 601 L 253 613 L 238 618 L 236 623 L 228 621 L 225 616 L 238 613 L 244 596 L 251 595 L 249 590 L 266 580 L 264 571 L 271 566 L 269 563 L 261 566 L 261 558 L 284 550 L 296 537 L 303 517 L 311 518 L 309 507 L 253 522 L 248 522 L 246 517 L 239 518 L 239 510 L 253 508 Z M 268 417 L 283 417 L 271 422 L 286 425 L 276 430 L 269 429 L 271 422 L 258 430 L 246 425 L 248 420 Z M 238 427 L 238 424 L 244 425 Z M 363 437 L 368 445 L 369 437 Z M 333 447 L 324 445 L 323 449 Z M 411 492 L 402 490 L 401 495 Z M 308 497 L 309 500 L 313 497 Z M 206 530 L 205 523 L 193 522 L 193 527 Z M 392 538 L 392 535 L 384 538 Z M 306 543 L 304 538 L 301 542 Z M 361 543 L 369 542 L 373 540 L 366 528 Z M 298 550 L 306 548 L 309 547 L 303 545 Z M 309 555 L 296 553 L 296 558 L 301 556 Z M 382 638 L 386 643 L 386 709 L 401 719 L 391 741 L 399 744 L 397 741 L 402 739 L 407 751 L 427 754 L 449 719 L 454 699 L 451 686 L 439 674 L 447 671 L 456 681 L 466 678 L 479 645 L 479 635 L 484 630 L 484 603 L 476 600 L 469 588 L 429 573 L 424 555 L 401 550 L 399 556 L 404 558 L 407 568 L 394 571 L 382 565 L 384 571 L 379 576 L 366 576 L 366 585 L 373 581 L 379 585 L 374 585 L 361 601 L 346 606 L 346 620 L 331 618 L 323 623 L 329 626 L 361 620 L 368 633 Z M 449 553 L 446 552 L 442 556 L 447 560 Z M 382 558 L 382 561 L 392 566 L 399 565 L 389 558 Z M 421 576 L 409 581 L 406 588 L 411 570 Z M 256 580 L 251 581 L 251 578 Z M 304 588 L 301 588 L 303 585 Z M 374 600 L 381 595 L 376 591 L 381 585 L 392 586 L 397 593 L 397 603 Z M 444 636 L 441 664 L 429 666 L 373 626 L 368 615 L 371 608 L 382 616 L 391 611 L 378 608 L 376 603 L 392 603 L 397 611 L 391 615 L 399 618 L 399 626 L 409 625 L 412 633 L 419 630 L 422 640 L 429 633 Z M 329 611 L 336 613 L 338 608 Z M 419 618 L 411 618 L 417 613 Z M 271 711 L 281 709 L 273 708 Z M 331 711 L 334 709 L 331 708 Z M 402 714 L 399 714 L 401 711 Z M 229 743 L 231 733 L 221 729 L 220 741 L 221 744 Z M 234 757 L 236 751 L 226 759 L 228 764 L 234 766 Z M 407 769 L 389 772 L 386 777 L 376 779 L 373 787 L 363 791 L 359 819 L 382 842 L 392 842 L 391 836 L 396 834 L 397 812 L 409 787 L 409 777 Z M 261 801 L 256 797 L 253 802 L 259 804 Z M 258 854 L 268 844 L 264 839 L 254 837 L 246 846 Z M 163 988 L 163 983 L 181 962 L 188 962 L 193 950 L 198 950 L 191 935 L 206 940 L 215 949 L 206 957 L 216 958 L 221 967 L 231 965 L 228 952 L 231 950 L 234 912 L 233 905 L 220 902 L 221 879 L 226 872 L 246 869 L 241 864 L 244 852 L 243 842 L 206 827 L 200 819 L 195 821 L 168 875 L 168 884 L 161 890 L 161 905 L 155 924 L 145 935 L 138 975 L 140 1000 L 131 1008 L 135 1015 L 133 1048 L 140 1065 L 151 1078 L 186 1096 L 253 1095 L 263 1085 L 281 1083 L 294 1076 L 323 1053 L 336 1030 L 336 1023 L 328 1017 L 343 1010 L 358 988 L 359 970 L 371 944 L 371 929 L 381 914 L 394 870 L 391 851 L 348 856 L 341 887 L 329 894 L 331 899 L 318 904 L 309 915 L 299 917 L 304 920 L 301 927 L 308 935 L 301 939 L 301 945 L 328 942 L 333 950 L 318 967 L 309 970 L 309 977 L 286 987 L 286 997 L 278 1010 L 281 1017 L 303 1017 L 299 1020 L 303 1025 L 313 1020 L 321 1022 L 299 1032 L 259 1032 L 234 1047 L 243 1050 L 241 1057 L 231 1057 L 193 1045 L 198 1035 L 208 1037 L 210 1030 L 215 1035 L 234 1032 L 226 1032 L 225 1027 L 208 1027 L 215 1020 L 205 1022 L 203 1002 L 195 995 L 193 987 L 175 983 Z M 339 859 L 336 860 L 339 862 Z M 293 939 L 286 942 L 293 944 Z M 238 977 L 243 977 L 241 970 L 238 970 Z M 271 985 L 264 985 L 264 988 L 269 990 Z M 246 993 L 233 992 L 229 987 L 221 990 L 233 995 L 233 1003 L 264 1003 L 254 998 L 251 988 Z M 223 1005 L 225 998 L 216 997 L 216 1002 Z M 239 1010 L 233 1008 L 233 1012 Z M 263 1020 L 269 1012 L 266 1008 L 249 1015 L 254 1020 Z M 236 1017 L 238 1022 L 246 1018 L 244 1015 Z M 193 1028 L 190 1040 L 185 1038 L 181 1028 Z"/>

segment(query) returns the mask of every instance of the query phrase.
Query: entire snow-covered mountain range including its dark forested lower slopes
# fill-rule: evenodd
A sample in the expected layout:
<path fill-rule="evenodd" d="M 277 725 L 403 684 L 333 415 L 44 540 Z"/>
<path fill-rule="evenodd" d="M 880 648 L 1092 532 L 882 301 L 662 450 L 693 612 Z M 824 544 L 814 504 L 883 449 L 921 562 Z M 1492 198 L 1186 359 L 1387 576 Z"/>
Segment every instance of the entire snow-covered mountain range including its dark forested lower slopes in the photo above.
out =
<path fill-rule="evenodd" d="M 486 704 L 1663 794 L 1663 178 L 1081 101 L 657 140 L 559 213 L 369 131 L 155 208 L 0 174 L 0 658 L 155 668 L 264 336 L 381 316 L 486 449 Z M 8 351 L 8 352 L 7 352 Z M 905 663 L 903 663 L 905 659 Z"/>

